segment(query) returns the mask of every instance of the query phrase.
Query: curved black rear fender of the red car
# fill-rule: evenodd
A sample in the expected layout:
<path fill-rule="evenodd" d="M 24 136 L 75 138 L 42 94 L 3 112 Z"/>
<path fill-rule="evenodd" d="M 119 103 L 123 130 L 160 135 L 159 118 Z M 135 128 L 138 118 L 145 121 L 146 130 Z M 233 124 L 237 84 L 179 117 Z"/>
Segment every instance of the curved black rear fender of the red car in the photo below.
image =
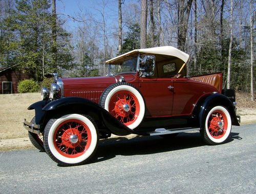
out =
<path fill-rule="evenodd" d="M 232 125 L 240 126 L 236 112 L 234 111 L 234 106 L 227 96 L 221 93 L 212 93 L 203 96 L 194 107 L 192 118 L 193 120 L 196 120 L 196 123 L 200 128 L 203 124 L 205 112 L 215 106 L 226 107 L 230 113 Z"/>

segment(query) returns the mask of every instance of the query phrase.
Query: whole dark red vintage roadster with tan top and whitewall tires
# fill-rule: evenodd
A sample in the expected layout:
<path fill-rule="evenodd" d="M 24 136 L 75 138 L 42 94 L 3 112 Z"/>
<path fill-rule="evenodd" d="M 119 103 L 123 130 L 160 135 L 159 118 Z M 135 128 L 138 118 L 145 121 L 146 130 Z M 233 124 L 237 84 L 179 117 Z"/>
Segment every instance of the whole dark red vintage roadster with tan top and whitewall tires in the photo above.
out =
<path fill-rule="evenodd" d="M 174 136 L 200 130 L 208 144 L 227 140 L 239 126 L 233 90 L 222 90 L 222 74 L 187 77 L 189 56 L 172 46 L 145 48 L 106 61 L 109 76 L 63 78 L 55 74 L 51 90 L 31 122 L 31 142 L 61 165 L 88 162 L 100 138 L 116 135 Z"/>

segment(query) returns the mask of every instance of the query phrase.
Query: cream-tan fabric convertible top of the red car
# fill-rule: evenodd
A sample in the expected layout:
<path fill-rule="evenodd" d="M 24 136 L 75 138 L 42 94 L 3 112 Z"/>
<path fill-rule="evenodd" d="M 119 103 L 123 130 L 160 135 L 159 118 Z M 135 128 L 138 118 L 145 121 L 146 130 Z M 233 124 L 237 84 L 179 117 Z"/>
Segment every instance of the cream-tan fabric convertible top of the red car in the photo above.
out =
<path fill-rule="evenodd" d="M 142 48 L 124 53 L 120 56 L 117 56 L 113 59 L 106 61 L 106 64 L 115 64 L 123 61 L 127 57 L 136 57 L 138 54 L 155 54 L 155 55 L 165 55 L 180 58 L 184 63 L 189 59 L 189 55 L 178 50 L 173 46 L 159 46 L 153 48 Z"/>

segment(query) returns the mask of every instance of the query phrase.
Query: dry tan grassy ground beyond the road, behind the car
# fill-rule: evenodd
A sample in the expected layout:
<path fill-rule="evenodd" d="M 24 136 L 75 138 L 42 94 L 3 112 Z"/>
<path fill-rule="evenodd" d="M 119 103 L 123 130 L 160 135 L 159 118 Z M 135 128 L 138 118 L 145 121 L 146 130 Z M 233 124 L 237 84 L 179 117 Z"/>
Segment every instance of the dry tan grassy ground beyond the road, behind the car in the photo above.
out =
<path fill-rule="evenodd" d="M 27 108 L 39 100 L 40 93 L 0 94 L 0 151 L 33 148 L 22 122 L 24 118 L 29 121 L 33 118 L 34 110 Z M 249 94 L 237 93 L 237 103 L 241 125 L 256 123 L 256 102 L 250 101 Z"/>

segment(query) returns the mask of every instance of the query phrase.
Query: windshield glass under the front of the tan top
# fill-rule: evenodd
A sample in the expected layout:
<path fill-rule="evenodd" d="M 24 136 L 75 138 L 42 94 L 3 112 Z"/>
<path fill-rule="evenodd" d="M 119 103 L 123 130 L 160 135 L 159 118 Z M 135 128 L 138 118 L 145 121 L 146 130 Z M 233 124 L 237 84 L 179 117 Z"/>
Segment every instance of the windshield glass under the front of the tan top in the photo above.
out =
<path fill-rule="evenodd" d="M 137 68 L 137 57 L 124 60 L 120 63 L 110 65 L 110 74 L 109 75 L 118 75 L 125 72 L 136 72 Z"/>

